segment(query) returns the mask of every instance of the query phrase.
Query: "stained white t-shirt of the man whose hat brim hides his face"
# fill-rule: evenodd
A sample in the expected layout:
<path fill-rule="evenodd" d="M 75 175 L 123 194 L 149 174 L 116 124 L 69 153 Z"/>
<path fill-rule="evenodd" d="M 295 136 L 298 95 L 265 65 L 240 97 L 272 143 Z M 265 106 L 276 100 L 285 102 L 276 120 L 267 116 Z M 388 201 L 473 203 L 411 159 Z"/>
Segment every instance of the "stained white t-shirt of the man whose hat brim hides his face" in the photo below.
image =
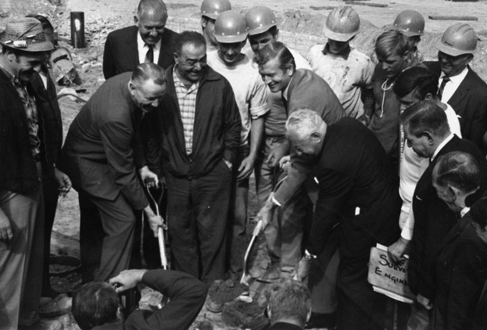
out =
<path fill-rule="evenodd" d="M 323 78 L 341 102 L 346 116 L 358 118 L 364 113 L 361 88 L 372 89 L 374 64 L 364 53 L 351 49 L 345 59 L 341 55 L 323 54 L 324 45 L 309 49 L 307 60 L 311 68 Z"/>

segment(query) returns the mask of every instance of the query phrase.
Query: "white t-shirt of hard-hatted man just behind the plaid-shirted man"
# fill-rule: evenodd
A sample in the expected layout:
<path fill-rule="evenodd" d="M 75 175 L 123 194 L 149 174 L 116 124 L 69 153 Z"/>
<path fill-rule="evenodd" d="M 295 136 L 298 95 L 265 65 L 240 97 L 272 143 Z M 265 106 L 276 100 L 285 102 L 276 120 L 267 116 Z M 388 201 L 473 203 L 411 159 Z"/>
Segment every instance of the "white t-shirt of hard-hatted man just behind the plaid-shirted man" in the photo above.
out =
<path fill-rule="evenodd" d="M 230 82 L 242 120 L 240 145 L 249 143 L 251 119 L 269 112 L 266 85 L 247 56 L 229 65 L 223 62 L 218 52 L 207 52 L 206 63 Z"/>

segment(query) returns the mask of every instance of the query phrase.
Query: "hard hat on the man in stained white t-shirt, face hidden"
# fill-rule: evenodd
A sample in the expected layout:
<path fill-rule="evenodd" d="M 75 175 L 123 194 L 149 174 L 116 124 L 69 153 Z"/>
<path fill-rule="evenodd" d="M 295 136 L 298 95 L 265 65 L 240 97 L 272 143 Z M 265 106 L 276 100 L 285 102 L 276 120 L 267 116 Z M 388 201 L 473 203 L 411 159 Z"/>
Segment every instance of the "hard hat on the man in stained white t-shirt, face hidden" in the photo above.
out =
<path fill-rule="evenodd" d="M 359 32 L 360 18 L 350 6 L 333 9 L 323 26 L 326 38 L 336 41 L 348 41 Z"/>

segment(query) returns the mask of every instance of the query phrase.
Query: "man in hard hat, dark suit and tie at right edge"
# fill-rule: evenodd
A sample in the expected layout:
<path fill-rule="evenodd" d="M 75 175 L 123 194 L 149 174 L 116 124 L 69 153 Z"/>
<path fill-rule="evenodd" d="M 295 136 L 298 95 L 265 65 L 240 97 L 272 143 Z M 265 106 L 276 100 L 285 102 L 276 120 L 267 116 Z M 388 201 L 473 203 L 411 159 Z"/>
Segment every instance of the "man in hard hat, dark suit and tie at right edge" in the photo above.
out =
<path fill-rule="evenodd" d="M 424 62 L 438 76 L 438 97 L 454 108 L 462 137 L 484 151 L 487 144 L 487 84 L 468 65 L 477 51 L 477 34 L 468 24 L 448 27 L 435 44 L 438 61 Z"/>

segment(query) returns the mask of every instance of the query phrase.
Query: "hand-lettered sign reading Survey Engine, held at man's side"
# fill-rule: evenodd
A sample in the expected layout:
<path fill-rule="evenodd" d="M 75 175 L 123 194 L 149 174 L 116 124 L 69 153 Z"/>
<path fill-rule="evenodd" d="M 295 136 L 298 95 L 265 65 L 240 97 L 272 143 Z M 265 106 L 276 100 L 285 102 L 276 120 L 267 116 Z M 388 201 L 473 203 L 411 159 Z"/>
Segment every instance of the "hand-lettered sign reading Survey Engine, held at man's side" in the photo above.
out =
<path fill-rule="evenodd" d="M 416 299 L 407 283 L 408 260 L 395 263 L 389 258 L 387 248 L 370 249 L 369 275 L 367 280 L 375 291 L 390 298 L 412 304 Z"/>

